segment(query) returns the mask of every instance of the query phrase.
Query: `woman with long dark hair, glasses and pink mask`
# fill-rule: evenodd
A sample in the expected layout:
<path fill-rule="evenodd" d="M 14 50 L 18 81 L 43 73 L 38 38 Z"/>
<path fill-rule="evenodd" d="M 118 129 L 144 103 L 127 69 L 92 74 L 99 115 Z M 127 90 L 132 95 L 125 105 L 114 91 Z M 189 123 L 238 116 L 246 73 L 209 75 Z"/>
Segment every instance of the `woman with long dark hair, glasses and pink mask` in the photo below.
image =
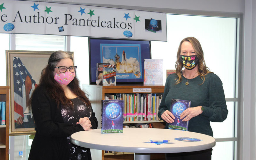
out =
<path fill-rule="evenodd" d="M 96 129 L 91 103 L 79 87 L 72 55 L 53 52 L 42 71 L 39 85 L 29 99 L 36 135 L 29 160 L 90 160 L 90 149 L 70 142 L 70 135 Z"/>

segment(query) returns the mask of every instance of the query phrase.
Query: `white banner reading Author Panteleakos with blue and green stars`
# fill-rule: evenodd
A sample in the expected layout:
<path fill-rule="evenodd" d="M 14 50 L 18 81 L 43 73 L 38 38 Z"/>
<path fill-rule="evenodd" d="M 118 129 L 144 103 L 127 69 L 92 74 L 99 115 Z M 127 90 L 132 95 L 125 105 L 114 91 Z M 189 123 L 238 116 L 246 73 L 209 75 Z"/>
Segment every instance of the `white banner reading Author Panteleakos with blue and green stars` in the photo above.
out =
<path fill-rule="evenodd" d="M 0 0 L 0 33 L 167 41 L 166 13 Z"/>

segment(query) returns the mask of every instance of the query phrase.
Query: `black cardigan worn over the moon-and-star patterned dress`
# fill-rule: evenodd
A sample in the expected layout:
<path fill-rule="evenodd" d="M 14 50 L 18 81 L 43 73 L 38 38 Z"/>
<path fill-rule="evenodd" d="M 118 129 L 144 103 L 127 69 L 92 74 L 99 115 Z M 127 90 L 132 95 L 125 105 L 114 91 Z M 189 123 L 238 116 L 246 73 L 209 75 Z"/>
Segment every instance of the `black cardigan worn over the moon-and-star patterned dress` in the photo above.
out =
<path fill-rule="evenodd" d="M 81 125 L 64 123 L 61 107 L 57 107 L 42 86 L 33 93 L 32 113 L 35 120 L 36 135 L 31 145 L 28 160 L 68 160 L 67 137 L 84 131 Z M 95 113 L 90 118 L 92 129 L 98 127 Z"/>

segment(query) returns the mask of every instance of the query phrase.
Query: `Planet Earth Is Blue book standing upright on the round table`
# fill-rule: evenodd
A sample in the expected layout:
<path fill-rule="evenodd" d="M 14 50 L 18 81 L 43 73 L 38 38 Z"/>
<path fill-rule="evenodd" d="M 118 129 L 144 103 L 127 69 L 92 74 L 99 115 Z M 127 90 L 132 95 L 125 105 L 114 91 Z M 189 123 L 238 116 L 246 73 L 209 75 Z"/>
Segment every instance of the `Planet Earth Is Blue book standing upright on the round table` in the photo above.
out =
<path fill-rule="evenodd" d="M 101 100 L 101 133 L 123 133 L 124 100 Z"/>

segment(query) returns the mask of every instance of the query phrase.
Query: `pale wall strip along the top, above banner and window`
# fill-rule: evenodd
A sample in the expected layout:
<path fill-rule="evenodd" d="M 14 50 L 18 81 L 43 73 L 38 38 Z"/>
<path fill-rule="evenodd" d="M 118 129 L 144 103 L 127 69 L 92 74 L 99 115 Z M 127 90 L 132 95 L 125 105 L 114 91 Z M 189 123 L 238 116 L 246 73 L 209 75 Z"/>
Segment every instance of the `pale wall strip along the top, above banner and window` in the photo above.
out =
<path fill-rule="evenodd" d="M 45 2 L 64 2 L 72 4 L 91 4 L 99 6 L 119 6 L 129 9 L 152 7 L 161 9 L 180 9 L 195 11 L 244 12 L 244 0 L 45 0 Z M 131 8 L 132 6 L 132 8 Z"/>

